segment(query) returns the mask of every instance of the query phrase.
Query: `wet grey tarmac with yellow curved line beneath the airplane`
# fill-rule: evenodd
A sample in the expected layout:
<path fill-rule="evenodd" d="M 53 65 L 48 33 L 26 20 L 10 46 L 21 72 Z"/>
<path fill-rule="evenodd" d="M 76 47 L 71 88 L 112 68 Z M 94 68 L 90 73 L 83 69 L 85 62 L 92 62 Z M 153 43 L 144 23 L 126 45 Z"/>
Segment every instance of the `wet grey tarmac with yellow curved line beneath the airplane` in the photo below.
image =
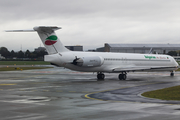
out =
<path fill-rule="evenodd" d="M 96 74 L 63 68 L 0 72 L 1 120 L 179 120 L 180 102 L 144 98 L 180 85 L 180 73 Z"/>

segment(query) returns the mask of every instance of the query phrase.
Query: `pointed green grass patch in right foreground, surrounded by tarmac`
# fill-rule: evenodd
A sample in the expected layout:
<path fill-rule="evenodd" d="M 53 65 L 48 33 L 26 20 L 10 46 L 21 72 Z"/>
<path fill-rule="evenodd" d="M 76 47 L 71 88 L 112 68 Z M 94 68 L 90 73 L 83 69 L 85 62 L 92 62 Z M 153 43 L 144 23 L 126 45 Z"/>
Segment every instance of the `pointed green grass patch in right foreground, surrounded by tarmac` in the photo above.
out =
<path fill-rule="evenodd" d="M 142 96 L 161 100 L 180 100 L 180 86 L 145 92 Z"/>

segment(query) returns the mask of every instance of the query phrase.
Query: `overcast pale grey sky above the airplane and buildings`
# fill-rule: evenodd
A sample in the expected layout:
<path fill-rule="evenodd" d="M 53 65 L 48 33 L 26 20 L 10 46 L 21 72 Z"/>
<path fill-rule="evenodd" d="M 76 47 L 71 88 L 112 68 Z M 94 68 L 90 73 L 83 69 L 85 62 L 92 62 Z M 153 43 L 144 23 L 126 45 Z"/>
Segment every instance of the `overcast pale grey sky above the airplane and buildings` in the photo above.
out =
<path fill-rule="evenodd" d="M 104 43 L 180 44 L 180 0 L 0 0 L 0 47 L 43 46 L 37 33 L 4 30 L 62 27 L 64 45 L 84 49 Z"/>

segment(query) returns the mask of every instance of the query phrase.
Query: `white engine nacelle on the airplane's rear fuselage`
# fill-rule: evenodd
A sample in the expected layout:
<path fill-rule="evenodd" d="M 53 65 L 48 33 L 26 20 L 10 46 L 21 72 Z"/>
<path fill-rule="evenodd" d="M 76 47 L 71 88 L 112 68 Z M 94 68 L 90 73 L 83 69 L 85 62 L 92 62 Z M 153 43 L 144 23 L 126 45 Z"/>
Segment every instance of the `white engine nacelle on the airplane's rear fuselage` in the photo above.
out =
<path fill-rule="evenodd" d="M 98 67 L 101 66 L 103 62 L 104 59 L 100 56 L 76 58 L 73 61 L 74 65 L 82 67 Z"/>

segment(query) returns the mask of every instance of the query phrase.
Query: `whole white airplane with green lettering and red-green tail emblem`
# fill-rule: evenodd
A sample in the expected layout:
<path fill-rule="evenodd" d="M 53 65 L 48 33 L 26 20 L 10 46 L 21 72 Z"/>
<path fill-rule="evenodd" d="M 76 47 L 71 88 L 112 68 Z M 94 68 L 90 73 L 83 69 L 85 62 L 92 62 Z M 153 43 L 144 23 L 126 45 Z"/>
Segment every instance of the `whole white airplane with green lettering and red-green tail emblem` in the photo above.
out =
<path fill-rule="evenodd" d="M 135 71 L 169 71 L 170 76 L 174 76 L 173 71 L 179 66 L 174 58 L 168 55 L 70 51 L 56 36 L 55 31 L 58 29 L 61 27 L 37 26 L 32 30 L 7 32 L 36 31 L 48 52 L 45 61 L 75 71 L 97 72 L 98 80 L 105 78 L 104 73 L 120 73 L 119 80 L 126 80 L 127 72 Z"/>

